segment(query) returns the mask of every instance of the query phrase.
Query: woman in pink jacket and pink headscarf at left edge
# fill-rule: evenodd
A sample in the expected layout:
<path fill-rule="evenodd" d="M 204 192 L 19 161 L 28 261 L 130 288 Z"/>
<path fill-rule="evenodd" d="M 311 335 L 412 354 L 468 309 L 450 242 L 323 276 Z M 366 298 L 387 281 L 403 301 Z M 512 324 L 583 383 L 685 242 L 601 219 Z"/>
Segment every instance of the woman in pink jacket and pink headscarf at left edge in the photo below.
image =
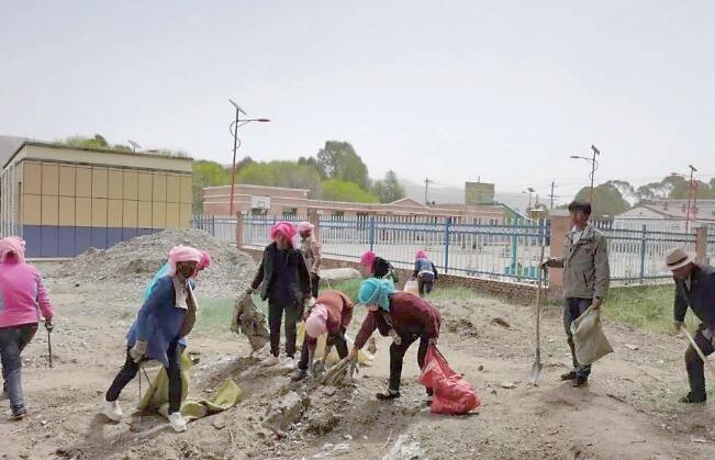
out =
<path fill-rule="evenodd" d="M 0 358 L 3 390 L 10 399 L 12 419 L 25 416 L 20 354 L 37 332 L 40 312 L 52 330 L 52 305 L 37 269 L 25 263 L 25 242 L 16 236 L 0 239 Z"/>

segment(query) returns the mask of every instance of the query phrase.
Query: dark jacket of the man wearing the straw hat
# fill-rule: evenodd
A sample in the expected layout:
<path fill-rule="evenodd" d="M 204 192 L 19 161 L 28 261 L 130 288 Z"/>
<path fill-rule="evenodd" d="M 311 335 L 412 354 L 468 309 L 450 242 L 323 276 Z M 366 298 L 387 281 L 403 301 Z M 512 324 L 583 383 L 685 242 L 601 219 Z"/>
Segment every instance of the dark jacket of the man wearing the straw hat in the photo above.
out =
<path fill-rule="evenodd" d="M 688 306 L 705 326 L 715 327 L 715 267 L 693 265 L 690 290 L 684 280 L 675 281 L 674 319 L 683 322 Z"/>

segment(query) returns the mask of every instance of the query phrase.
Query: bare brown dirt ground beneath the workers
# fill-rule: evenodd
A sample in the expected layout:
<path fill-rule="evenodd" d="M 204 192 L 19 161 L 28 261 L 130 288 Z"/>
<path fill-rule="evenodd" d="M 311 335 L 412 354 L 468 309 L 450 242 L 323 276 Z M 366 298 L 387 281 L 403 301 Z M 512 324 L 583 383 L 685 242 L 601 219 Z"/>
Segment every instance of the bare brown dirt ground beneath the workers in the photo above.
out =
<path fill-rule="evenodd" d="M 594 366 L 588 388 L 573 389 L 558 379 L 570 357 L 559 308 L 550 307 L 543 321 L 545 367 L 533 388 L 526 384 L 533 308 L 477 293 L 437 306 L 439 347 L 477 389 L 478 414 L 429 413 L 415 382 L 416 346 L 405 358 L 402 397 L 384 403 L 373 394 L 387 385 L 386 338 L 378 338 L 376 359 L 362 368 L 357 385 L 335 389 L 292 383 L 259 368 L 257 358 L 248 358 L 245 338 L 217 330 L 190 337 L 189 348 L 200 358 L 190 393 L 205 396 L 233 378 L 244 391 L 237 406 L 191 423 L 185 434 L 152 415 L 111 424 L 98 415 L 99 403 L 123 361 L 124 334 L 144 285 L 77 285 L 53 277 L 54 266 L 41 269 L 56 308 L 54 368 L 47 367 L 41 329 L 23 356 L 29 416 L 0 420 L 2 458 L 715 458 L 715 406 L 677 403 L 686 392 L 682 338 L 607 323 L 615 354 Z M 200 300 L 200 287 L 197 294 Z M 362 317 L 357 312 L 353 335 Z M 137 394 L 135 381 L 120 400 L 125 413 Z M 284 399 L 298 399 L 300 418 L 277 436 L 261 422 Z M 8 402 L 0 404 L 4 412 Z"/>

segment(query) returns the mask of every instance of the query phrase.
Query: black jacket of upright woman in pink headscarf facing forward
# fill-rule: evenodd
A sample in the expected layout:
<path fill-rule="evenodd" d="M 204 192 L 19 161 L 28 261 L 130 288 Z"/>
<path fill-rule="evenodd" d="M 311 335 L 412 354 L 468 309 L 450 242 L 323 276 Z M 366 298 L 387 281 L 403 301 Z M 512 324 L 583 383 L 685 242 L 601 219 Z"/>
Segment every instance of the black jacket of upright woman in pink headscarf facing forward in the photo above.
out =
<path fill-rule="evenodd" d="M 287 282 L 286 280 L 277 279 L 276 263 L 287 263 L 288 270 L 295 270 L 292 280 L 288 281 L 290 282 L 288 290 L 292 294 L 294 302 L 299 303 L 311 296 L 311 277 L 301 251 L 295 248 L 280 250 L 273 242 L 264 249 L 264 258 L 260 261 L 260 266 L 258 266 L 256 278 L 250 283 L 253 289 L 258 289 L 260 285 L 260 299 L 268 299 L 271 289 L 280 289 L 282 285 L 279 283 Z"/>

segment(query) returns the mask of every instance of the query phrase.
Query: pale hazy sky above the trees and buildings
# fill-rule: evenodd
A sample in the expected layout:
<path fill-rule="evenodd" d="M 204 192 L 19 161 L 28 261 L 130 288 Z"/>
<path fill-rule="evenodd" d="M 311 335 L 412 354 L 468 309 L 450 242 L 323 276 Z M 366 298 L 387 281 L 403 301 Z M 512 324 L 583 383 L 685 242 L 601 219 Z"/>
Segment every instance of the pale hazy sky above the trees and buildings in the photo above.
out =
<path fill-rule="evenodd" d="M 715 2 L 0 3 L 0 134 L 238 156 L 350 142 L 378 178 L 498 191 L 715 176 Z M 710 134 L 708 134 L 710 133 Z"/>

